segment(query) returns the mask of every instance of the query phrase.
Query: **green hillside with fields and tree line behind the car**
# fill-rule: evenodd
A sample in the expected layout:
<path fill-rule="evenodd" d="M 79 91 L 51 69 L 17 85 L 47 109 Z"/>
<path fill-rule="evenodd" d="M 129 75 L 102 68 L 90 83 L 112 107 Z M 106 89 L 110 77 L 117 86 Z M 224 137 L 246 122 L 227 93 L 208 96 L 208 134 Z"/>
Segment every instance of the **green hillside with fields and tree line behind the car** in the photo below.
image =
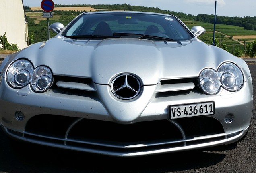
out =
<path fill-rule="evenodd" d="M 112 9 L 111 9 L 112 8 Z M 170 12 L 169 10 L 161 10 L 159 8 L 147 8 L 140 6 L 130 6 L 129 4 L 122 5 L 56 5 L 53 12 L 53 18 L 49 18 L 50 24 L 54 22 L 61 22 L 68 24 L 75 16 L 81 12 L 94 12 L 105 10 L 133 10 L 133 11 L 150 11 L 161 12 L 166 14 L 174 14 L 180 18 L 188 28 L 192 26 L 200 25 L 206 29 L 206 33 L 200 36 L 200 39 L 208 44 L 211 44 L 213 38 L 213 24 L 207 22 L 210 20 L 211 15 L 200 14 L 198 16 L 187 15 L 184 13 Z M 33 35 L 34 42 L 47 40 L 47 18 L 42 16 L 43 10 L 41 7 L 30 7 L 29 10 L 25 10 L 25 14 L 29 21 L 29 33 Z M 200 17 L 200 18 L 199 18 Z M 218 17 L 218 16 L 217 16 Z M 208 18 L 208 19 L 207 19 Z M 193 19 L 193 20 L 192 20 Z M 202 22 L 202 21 L 206 22 Z M 232 19 L 234 20 L 234 18 Z M 256 40 L 256 30 L 246 30 L 242 26 L 234 26 L 227 24 L 216 24 L 215 28 L 215 45 L 225 49 L 232 54 L 235 54 L 235 50 L 241 50 L 244 52 L 245 42 L 254 42 Z M 45 33 L 45 34 L 42 34 Z M 54 36 L 54 33 L 50 32 L 50 37 Z"/>

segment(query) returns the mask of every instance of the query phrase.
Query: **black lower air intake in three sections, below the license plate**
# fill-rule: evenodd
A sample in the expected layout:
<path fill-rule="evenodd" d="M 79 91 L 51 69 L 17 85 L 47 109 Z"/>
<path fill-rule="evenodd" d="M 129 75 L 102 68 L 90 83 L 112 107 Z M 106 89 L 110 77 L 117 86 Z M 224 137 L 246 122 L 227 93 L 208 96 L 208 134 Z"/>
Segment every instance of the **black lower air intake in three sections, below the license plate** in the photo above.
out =
<path fill-rule="evenodd" d="M 31 118 L 25 131 L 39 135 L 64 138 L 77 118 L 57 115 L 37 115 Z M 176 120 L 187 138 L 224 133 L 221 123 L 211 117 Z M 121 135 L 120 135 L 121 134 Z M 131 142 L 182 139 L 178 128 L 168 120 L 146 121 L 122 125 L 110 121 L 82 119 L 68 134 L 68 139 Z"/>

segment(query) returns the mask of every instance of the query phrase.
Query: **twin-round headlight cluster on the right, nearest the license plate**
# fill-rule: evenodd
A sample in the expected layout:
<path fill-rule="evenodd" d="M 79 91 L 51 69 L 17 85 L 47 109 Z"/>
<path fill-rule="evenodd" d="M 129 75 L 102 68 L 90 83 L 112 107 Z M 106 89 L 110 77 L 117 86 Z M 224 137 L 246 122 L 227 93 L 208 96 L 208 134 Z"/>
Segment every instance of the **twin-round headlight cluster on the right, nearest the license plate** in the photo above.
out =
<path fill-rule="evenodd" d="M 242 87 L 244 78 L 241 70 L 233 63 L 222 64 L 217 71 L 206 68 L 199 76 L 199 84 L 206 94 L 216 94 L 220 87 L 228 91 L 237 91 Z"/>

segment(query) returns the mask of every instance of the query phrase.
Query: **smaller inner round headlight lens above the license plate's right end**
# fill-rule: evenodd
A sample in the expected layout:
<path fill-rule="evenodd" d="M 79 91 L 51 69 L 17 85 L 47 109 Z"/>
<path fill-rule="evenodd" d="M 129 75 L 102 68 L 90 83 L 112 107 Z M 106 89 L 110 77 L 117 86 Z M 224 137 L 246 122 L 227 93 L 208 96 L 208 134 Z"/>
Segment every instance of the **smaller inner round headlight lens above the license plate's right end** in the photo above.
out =
<path fill-rule="evenodd" d="M 199 80 L 200 87 L 205 93 L 214 95 L 219 91 L 219 77 L 215 70 L 210 68 L 202 70 Z"/>

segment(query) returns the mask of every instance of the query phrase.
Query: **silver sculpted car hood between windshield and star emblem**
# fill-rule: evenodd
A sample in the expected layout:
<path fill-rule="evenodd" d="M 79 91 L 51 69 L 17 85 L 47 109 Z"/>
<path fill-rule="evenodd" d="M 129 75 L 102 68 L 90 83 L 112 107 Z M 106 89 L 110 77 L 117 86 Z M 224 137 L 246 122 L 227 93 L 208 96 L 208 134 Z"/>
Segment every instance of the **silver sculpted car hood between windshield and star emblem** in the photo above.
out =
<path fill-rule="evenodd" d="M 143 85 L 157 84 L 161 79 L 197 77 L 206 67 L 216 70 L 223 60 L 243 61 L 197 38 L 184 42 L 74 40 L 60 35 L 8 58 L 29 58 L 35 67 L 49 66 L 54 75 L 91 78 L 97 84 L 110 84 L 118 74 L 135 74 Z"/>

